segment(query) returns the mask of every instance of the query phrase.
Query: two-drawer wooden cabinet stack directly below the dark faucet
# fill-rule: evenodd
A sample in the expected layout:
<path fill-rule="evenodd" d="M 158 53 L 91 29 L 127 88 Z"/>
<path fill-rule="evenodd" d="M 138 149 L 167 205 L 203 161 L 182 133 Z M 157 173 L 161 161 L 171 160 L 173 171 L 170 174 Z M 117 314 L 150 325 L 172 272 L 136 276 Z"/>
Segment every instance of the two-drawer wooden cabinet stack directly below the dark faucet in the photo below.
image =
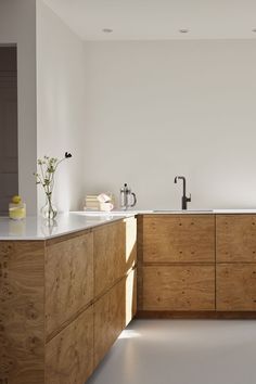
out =
<path fill-rule="evenodd" d="M 139 220 L 139 309 L 215 310 L 215 216 Z"/>

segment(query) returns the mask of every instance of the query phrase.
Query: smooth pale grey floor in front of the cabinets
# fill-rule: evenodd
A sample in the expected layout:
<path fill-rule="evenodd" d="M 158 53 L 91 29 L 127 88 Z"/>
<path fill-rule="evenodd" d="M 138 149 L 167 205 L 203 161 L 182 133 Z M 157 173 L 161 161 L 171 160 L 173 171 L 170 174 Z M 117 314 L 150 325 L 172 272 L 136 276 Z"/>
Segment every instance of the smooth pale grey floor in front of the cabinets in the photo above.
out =
<path fill-rule="evenodd" d="M 87 384 L 256 384 L 256 321 L 135 320 Z"/>

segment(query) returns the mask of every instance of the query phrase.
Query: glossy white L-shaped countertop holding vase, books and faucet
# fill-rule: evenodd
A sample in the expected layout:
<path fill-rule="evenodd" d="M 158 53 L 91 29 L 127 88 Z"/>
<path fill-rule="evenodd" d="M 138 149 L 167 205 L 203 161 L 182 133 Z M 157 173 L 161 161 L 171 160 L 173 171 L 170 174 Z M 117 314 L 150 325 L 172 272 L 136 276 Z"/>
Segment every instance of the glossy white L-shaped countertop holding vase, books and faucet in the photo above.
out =
<path fill-rule="evenodd" d="M 234 215 L 255 214 L 256 209 L 188 209 L 188 210 L 114 210 L 102 212 L 74 212 L 60 214 L 54 223 L 49 226 L 41 217 L 27 217 L 25 220 L 11 220 L 8 217 L 0 217 L 0 241 L 7 240 L 47 240 L 60 235 L 94 228 L 106 222 L 116 221 L 121 218 L 138 214 L 150 215 Z"/>

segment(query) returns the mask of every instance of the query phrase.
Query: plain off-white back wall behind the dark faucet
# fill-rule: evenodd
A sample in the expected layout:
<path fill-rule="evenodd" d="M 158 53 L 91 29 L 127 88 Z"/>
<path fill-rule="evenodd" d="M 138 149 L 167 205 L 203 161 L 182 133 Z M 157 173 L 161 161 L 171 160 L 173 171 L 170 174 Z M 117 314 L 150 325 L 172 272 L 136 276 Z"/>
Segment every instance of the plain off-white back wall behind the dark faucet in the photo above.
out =
<path fill-rule="evenodd" d="M 87 42 L 86 192 L 140 208 L 256 207 L 256 41 Z"/>

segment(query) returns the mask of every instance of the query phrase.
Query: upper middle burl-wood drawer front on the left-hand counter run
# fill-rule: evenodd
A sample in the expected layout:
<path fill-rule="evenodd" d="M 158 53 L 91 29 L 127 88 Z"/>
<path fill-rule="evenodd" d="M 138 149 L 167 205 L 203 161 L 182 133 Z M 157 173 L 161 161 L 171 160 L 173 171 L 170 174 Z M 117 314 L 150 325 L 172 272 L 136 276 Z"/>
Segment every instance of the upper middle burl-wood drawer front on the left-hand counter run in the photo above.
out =
<path fill-rule="evenodd" d="M 126 223 L 114 222 L 93 231 L 94 296 L 126 273 Z"/>

